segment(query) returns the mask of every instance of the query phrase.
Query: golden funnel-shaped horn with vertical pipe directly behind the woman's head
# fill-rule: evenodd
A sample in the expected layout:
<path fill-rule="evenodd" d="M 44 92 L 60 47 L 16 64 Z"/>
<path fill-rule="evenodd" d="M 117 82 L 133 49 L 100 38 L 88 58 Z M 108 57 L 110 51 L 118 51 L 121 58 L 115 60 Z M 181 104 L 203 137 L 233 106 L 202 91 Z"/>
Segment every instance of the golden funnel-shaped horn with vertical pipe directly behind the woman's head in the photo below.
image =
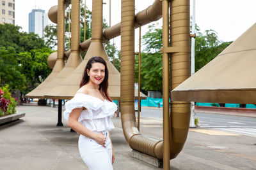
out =
<path fill-rule="evenodd" d="M 109 69 L 109 94 L 112 99 L 120 98 L 120 73 L 108 60 L 108 55 L 102 44 L 102 0 L 93 0 L 92 10 L 92 43 L 86 52 L 83 62 L 56 87 L 52 88 L 45 96 L 52 99 L 70 99 L 79 89 L 79 83 L 84 73 L 84 67 L 93 56 L 100 56 L 108 65 Z M 68 89 L 68 90 L 67 90 Z"/>

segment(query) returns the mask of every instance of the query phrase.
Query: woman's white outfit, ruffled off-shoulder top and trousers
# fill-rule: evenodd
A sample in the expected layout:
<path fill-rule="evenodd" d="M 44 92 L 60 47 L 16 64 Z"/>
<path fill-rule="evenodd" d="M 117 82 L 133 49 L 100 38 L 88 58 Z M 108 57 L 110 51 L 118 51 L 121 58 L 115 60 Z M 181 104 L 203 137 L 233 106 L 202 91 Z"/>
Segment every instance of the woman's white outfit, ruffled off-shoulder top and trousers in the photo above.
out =
<path fill-rule="evenodd" d="M 72 110 L 83 107 L 86 110 L 81 112 L 78 122 L 90 131 L 103 133 L 107 139 L 106 148 L 104 148 L 93 139 L 80 135 L 78 147 L 81 158 L 89 169 L 113 169 L 109 131 L 115 128 L 111 118 L 117 110 L 117 106 L 106 99 L 102 101 L 97 97 L 78 93 L 65 104 L 63 117 L 68 120 Z"/>

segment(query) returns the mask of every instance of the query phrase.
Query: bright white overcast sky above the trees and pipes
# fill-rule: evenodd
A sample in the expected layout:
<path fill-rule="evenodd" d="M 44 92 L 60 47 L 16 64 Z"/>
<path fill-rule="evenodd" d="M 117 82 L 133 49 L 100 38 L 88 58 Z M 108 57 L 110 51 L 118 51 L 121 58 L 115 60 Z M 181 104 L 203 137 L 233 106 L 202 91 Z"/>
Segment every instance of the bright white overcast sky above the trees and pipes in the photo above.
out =
<path fill-rule="evenodd" d="M 84 0 L 83 0 L 84 1 Z M 196 24 L 203 32 L 212 29 L 218 33 L 221 41 L 234 41 L 244 31 L 256 22 L 255 0 L 195 0 Z M 121 0 L 111 0 L 111 25 L 121 21 Z M 135 13 L 150 6 L 154 0 L 136 0 Z M 104 0 L 104 18 L 109 24 L 109 0 Z M 22 27 L 22 31 L 28 32 L 28 15 L 32 9 L 42 9 L 48 13 L 49 9 L 58 4 L 58 0 L 16 0 L 15 1 L 15 25 Z M 190 0 L 191 15 L 193 12 L 193 0 Z M 92 0 L 86 1 L 86 6 L 92 10 Z M 50 21 L 49 21 L 50 23 Z M 162 20 L 157 22 L 162 25 Z M 150 24 L 149 24 L 150 25 Z M 148 25 L 141 27 L 141 35 L 147 32 Z M 135 31 L 135 50 L 138 52 L 138 29 Z M 116 46 L 120 48 L 120 36 L 115 38 Z"/>

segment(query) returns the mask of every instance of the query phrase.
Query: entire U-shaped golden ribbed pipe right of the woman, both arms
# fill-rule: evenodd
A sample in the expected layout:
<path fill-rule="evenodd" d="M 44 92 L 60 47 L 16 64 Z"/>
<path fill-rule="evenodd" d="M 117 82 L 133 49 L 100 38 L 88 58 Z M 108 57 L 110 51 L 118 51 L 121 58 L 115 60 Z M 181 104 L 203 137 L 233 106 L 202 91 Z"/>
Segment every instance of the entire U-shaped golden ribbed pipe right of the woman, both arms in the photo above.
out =
<path fill-rule="evenodd" d="M 164 1 L 164 3 L 168 1 Z M 171 45 L 189 48 L 189 0 L 172 1 L 171 18 Z M 168 10 L 164 8 L 164 10 Z M 121 22 L 121 117 L 124 136 L 132 149 L 163 159 L 163 141 L 147 138 L 138 132 L 134 114 L 134 0 L 122 1 L 122 22 Z M 168 12 L 167 12 L 168 15 Z M 125 18 L 125 19 L 124 19 Z M 168 23 L 168 20 L 167 20 Z M 168 30 L 166 31 L 168 32 Z M 168 33 L 167 33 L 168 34 Z M 167 36 L 168 37 L 168 36 Z M 163 42 L 168 46 L 168 40 Z M 168 55 L 164 57 L 168 60 Z M 172 54 L 172 89 L 188 78 L 189 74 L 189 52 L 176 52 Z M 180 64 L 182 63 L 182 64 Z M 168 65 L 168 61 L 167 61 Z M 167 66 L 168 68 L 168 66 Z M 168 72 L 168 69 L 166 69 Z M 168 74 L 164 89 L 168 88 Z M 168 96 L 167 96 L 168 97 Z M 166 101 L 166 100 L 165 100 Z M 168 110 L 169 103 L 164 103 Z M 171 119 L 164 120 L 165 124 L 171 121 L 170 134 L 170 159 L 175 158 L 182 150 L 186 141 L 189 129 L 190 103 L 172 102 Z M 166 119 L 166 116 L 164 117 Z M 168 115 L 167 115 L 168 119 Z M 168 133 L 168 131 L 167 131 Z M 168 141 L 168 139 L 167 139 Z M 169 155 L 169 154 L 167 154 Z M 168 157 L 167 157 L 168 158 Z"/>

